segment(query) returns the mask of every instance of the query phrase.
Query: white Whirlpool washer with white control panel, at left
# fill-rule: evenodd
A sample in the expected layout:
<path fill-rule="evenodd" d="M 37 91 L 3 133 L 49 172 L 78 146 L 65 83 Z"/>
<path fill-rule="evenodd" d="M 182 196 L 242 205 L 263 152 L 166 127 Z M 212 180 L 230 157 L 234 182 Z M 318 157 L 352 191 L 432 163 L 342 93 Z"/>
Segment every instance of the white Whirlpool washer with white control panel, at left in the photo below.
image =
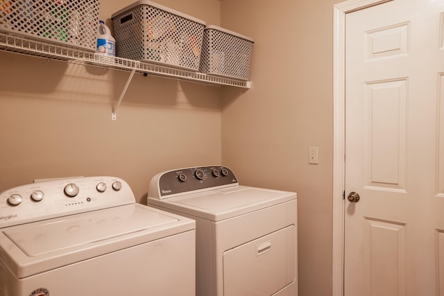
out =
<path fill-rule="evenodd" d="M 0 193 L 0 296 L 195 295 L 196 223 L 117 177 Z"/>

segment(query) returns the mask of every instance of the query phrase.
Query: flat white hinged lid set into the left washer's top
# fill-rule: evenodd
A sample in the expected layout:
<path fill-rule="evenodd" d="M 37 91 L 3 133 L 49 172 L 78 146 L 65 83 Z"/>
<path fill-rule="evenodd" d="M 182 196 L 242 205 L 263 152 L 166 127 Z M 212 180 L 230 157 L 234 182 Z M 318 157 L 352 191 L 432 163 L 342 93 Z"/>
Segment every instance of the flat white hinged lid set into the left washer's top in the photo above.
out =
<path fill-rule="evenodd" d="M 26 255 L 41 256 L 176 221 L 140 207 L 118 207 L 10 227 L 3 233 Z"/>

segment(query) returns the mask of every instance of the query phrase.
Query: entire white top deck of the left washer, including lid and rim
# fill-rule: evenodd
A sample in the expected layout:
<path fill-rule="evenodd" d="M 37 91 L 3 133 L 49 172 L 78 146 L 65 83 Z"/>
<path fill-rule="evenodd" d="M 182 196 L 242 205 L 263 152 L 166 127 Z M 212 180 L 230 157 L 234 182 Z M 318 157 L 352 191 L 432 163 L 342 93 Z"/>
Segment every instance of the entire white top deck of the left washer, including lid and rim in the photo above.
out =
<path fill-rule="evenodd" d="M 2 229 L 0 261 L 22 279 L 195 228 L 194 220 L 128 204 Z"/>

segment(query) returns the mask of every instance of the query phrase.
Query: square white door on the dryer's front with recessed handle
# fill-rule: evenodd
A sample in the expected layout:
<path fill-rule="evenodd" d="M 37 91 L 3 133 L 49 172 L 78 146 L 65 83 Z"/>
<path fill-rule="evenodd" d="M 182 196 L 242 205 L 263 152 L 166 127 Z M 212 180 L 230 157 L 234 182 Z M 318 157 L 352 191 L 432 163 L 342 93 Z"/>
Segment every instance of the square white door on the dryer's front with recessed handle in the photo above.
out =
<path fill-rule="evenodd" d="M 223 295 L 273 295 L 296 281 L 296 227 L 290 225 L 223 254 Z"/>

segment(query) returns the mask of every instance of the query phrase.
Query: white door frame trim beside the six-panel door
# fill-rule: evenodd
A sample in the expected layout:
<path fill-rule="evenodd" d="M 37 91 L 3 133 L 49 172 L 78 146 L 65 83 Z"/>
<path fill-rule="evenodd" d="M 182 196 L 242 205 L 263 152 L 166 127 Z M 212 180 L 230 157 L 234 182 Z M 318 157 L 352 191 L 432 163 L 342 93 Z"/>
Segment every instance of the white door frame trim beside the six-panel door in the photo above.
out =
<path fill-rule="evenodd" d="M 345 15 L 393 0 L 349 0 L 333 6 L 332 295 L 344 295 Z"/>

